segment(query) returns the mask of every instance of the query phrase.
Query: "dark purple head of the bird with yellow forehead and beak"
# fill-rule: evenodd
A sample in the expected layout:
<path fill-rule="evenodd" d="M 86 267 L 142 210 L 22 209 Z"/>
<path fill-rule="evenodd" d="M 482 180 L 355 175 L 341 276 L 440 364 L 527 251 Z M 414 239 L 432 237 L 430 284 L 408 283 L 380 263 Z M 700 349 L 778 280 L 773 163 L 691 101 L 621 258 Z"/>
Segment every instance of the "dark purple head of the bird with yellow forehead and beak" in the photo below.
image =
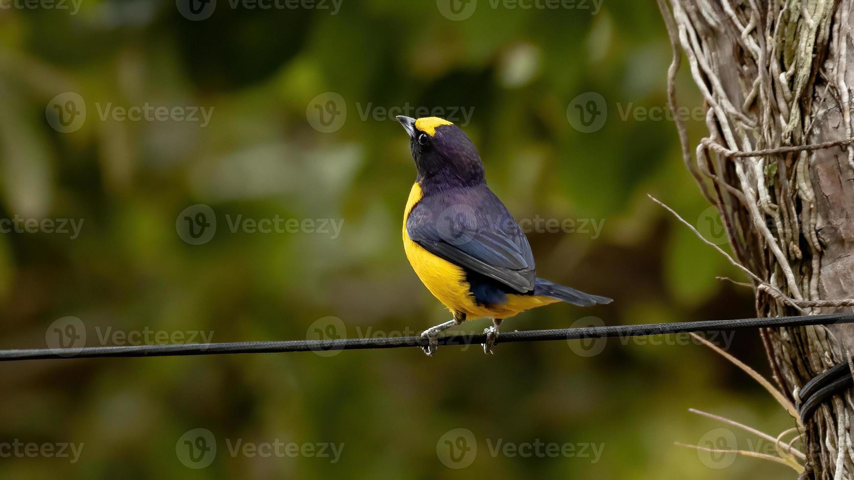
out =
<path fill-rule="evenodd" d="M 459 126 L 438 117 L 397 121 L 409 133 L 419 183 L 471 186 L 483 182 L 483 162 Z"/>

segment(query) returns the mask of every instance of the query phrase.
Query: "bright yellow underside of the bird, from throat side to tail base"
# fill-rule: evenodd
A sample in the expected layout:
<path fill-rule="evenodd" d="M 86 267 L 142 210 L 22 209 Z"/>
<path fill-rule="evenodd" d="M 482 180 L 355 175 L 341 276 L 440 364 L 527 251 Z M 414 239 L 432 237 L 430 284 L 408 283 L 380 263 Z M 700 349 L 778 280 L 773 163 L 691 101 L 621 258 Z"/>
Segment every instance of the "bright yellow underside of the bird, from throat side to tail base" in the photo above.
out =
<path fill-rule="evenodd" d="M 465 313 L 468 319 L 483 317 L 507 319 L 529 308 L 542 307 L 559 301 L 547 296 L 508 295 L 507 302 L 499 307 L 477 305 L 477 301 L 471 295 L 469 283 L 465 281 L 465 270 L 461 266 L 431 254 L 409 238 L 407 218 L 412 207 L 421 200 L 422 195 L 420 185 L 417 183 L 412 185 L 407 208 L 403 213 L 403 248 L 407 252 L 407 259 L 412 269 L 427 290 L 430 290 L 430 293 L 452 313 L 455 311 Z"/>

